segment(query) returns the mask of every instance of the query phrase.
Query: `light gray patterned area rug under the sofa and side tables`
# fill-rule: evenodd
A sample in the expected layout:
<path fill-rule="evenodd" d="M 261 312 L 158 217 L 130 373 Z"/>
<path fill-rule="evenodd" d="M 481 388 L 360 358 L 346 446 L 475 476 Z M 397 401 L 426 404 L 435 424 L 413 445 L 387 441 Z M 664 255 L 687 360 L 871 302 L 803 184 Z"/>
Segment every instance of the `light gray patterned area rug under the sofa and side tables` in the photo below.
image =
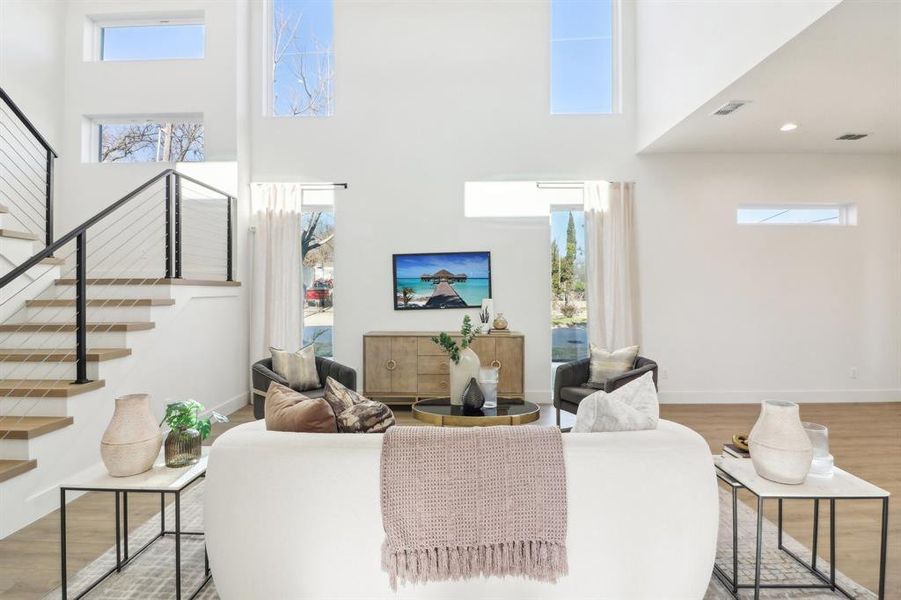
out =
<path fill-rule="evenodd" d="M 203 481 L 194 485 L 182 495 L 182 522 L 185 531 L 200 531 L 203 527 Z M 756 513 L 741 502 L 738 504 L 738 539 L 739 549 L 739 580 L 750 582 L 754 577 L 754 536 L 756 535 Z M 725 490 L 720 491 L 720 528 L 719 543 L 717 545 L 717 563 L 729 574 L 732 573 L 732 517 L 731 496 Z M 169 527 L 175 522 L 173 507 L 166 510 L 166 523 Z M 132 533 L 129 546 L 132 549 L 140 548 L 159 531 L 159 515 L 150 519 L 138 530 Z M 825 532 L 824 532 L 825 533 Z M 828 540 L 828 537 L 824 538 Z M 787 548 L 802 557 L 808 555 L 809 550 L 788 534 L 783 535 L 783 543 Z M 174 561 L 175 542 L 171 536 L 157 541 L 146 552 L 129 564 L 121 573 L 111 575 L 106 581 L 95 588 L 88 596 L 91 599 L 109 600 L 150 600 L 153 598 L 174 598 Z M 674 557 L 673 560 L 678 560 Z M 94 581 L 102 573 L 106 572 L 116 562 L 116 549 L 111 547 L 103 556 L 80 570 L 74 576 L 69 577 L 69 596 L 74 596 L 85 586 Z M 826 572 L 829 563 L 820 560 L 820 568 Z M 182 595 L 190 597 L 197 585 L 203 581 L 203 542 L 195 536 L 182 537 Z M 776 548 L 776 526 L 764 522 L 764 551 L 762 579 L 769 583 L 794 583 L 807 582 L 818 583 L 816 579 L 807 573 L 784 552 Z M 838 583 L 851 592 L 855 599 L 876 598 L 876 595 L 841 573 L 836 577 Z M 387 585 L 387 575 L 385 585 Z M 753 590 L 742 590 L 740 598 L 751 598 Z M 60 597 L 59 590 L 55 590 L 45 596 L 45 600 L 55 600 Z M 838 596 L 828 590 L 764 590 L 761 597 L 766 599 L 834 599 Z M 210 582 L 197 596 L 201 600 L 218 600 L 215 582 Z M 710 586 L 704 600 L 726 600 L 732 598 L 719 581 L 711 577 Z"/>

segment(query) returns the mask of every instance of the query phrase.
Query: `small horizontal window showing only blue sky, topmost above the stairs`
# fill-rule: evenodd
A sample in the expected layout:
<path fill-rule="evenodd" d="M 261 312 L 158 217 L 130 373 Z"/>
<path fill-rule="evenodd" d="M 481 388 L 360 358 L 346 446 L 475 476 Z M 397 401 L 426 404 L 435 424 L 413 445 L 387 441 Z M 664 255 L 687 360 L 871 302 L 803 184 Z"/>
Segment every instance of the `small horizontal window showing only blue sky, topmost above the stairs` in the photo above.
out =
<path fill-rule="evenodd" d="M 94 22 L 94 60 L 203 58 L 202 17 Z"/>

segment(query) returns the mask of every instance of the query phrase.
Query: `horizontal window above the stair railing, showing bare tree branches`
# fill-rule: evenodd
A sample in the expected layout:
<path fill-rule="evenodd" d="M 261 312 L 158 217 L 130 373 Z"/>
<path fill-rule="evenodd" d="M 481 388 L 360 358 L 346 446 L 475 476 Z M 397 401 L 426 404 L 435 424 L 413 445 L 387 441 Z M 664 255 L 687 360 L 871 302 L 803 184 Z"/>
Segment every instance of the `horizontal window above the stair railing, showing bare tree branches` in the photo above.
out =
<path fill-rule="evenodd" d="M 91 129 L 96 162 L 204 160 L 203 123 L 196 117 L 95 119 Z"/>

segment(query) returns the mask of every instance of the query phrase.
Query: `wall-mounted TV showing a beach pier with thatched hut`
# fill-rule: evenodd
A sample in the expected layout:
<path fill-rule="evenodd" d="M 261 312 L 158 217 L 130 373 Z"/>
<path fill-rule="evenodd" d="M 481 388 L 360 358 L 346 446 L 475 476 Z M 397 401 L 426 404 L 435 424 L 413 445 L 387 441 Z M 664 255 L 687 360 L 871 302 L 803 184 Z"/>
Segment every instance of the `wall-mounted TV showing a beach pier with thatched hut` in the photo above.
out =
<path fill-rule="evenodd" d="M 490 298 L 488 252 L 394 257 L 394 306 L 402 309 L 480 307 Z"/>

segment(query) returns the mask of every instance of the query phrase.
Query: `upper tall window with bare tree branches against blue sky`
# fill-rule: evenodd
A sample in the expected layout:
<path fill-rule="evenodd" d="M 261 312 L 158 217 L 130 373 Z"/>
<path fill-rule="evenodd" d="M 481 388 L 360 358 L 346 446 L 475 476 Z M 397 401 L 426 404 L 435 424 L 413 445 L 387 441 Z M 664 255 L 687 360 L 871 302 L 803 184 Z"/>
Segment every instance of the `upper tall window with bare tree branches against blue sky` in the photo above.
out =
<path fill-rule="evenodd" d="M 329 117 L 335 112 L 331 0 L 271 0 L 272 81 L 277 117 Z"/>

